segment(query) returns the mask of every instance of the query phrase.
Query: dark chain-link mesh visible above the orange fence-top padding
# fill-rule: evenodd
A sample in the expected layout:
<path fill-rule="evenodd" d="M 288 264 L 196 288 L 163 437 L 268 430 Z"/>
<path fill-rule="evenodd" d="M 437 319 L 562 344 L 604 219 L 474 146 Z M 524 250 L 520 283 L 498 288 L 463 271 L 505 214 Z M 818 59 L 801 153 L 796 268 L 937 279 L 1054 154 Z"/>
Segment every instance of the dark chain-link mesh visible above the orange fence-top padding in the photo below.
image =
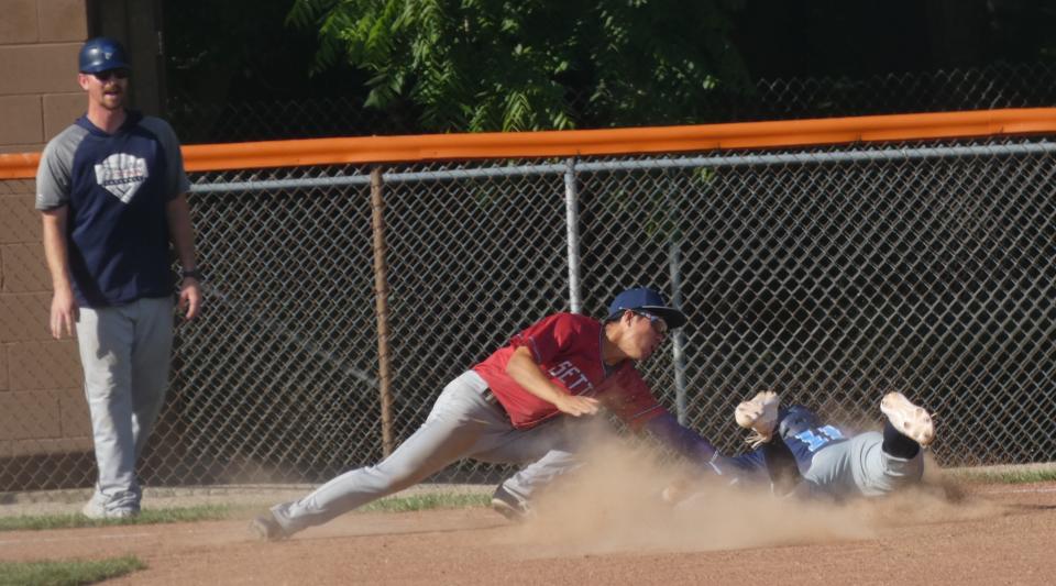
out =
<path fill-rule="evenodd" d="M 1056 64 L 994 63 L 938 71 L 904 71 L 865 78 L 760 79 L 745 89 L 716 88 L 698 119 L 683 124 L 792 120 L 906 112 L 948 112 L 1056 106 Z M 586 95 L 569 95 L 576 128 L 612 124 L 592 113 Z M 409 104 L 382 112 L 362 98 L 304 98 L 252 102 L 204 102 L 188 96 L 169 100 L 168 118 L 186 144 L 417 134 L 429 132 Z M 669 121 L 670 119 L 664 118 Z M 642 125 L 658 120 L 642 120 Z"/>

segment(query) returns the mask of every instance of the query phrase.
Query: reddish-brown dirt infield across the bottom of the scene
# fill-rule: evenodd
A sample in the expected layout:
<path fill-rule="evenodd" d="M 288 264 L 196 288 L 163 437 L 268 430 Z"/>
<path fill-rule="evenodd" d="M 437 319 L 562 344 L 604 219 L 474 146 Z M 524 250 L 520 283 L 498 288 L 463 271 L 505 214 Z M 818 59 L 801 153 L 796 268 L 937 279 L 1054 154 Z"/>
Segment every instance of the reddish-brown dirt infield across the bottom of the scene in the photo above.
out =
<path fill-rule="evenodd" d="M 262 543 L 245 520 L 0 533 L 0 560 L 135 554 L 108 584 L 1052 584 L 1056 484 L 849 506 L 728 494 L 678 508 L 619 487 L 510 524 L 483 508 L 350 513 Z"/>

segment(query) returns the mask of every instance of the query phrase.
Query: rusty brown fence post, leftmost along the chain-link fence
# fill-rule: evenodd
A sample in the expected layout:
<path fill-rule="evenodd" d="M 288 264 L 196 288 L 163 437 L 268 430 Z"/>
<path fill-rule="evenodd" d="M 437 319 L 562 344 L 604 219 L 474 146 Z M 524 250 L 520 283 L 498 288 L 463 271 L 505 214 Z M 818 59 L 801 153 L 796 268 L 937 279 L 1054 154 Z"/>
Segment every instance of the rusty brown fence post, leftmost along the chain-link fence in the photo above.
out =
<path fill-rule="evenodd" d="M 393 453 L 393 394 L 388 352 L 388 265 L 385 259 L 385 198 L 382 168 L 371 170 L 371 211 L 374 231 L 374 295 L 377 305 L 377 389 L 382 407 L 382 453 Z"/>

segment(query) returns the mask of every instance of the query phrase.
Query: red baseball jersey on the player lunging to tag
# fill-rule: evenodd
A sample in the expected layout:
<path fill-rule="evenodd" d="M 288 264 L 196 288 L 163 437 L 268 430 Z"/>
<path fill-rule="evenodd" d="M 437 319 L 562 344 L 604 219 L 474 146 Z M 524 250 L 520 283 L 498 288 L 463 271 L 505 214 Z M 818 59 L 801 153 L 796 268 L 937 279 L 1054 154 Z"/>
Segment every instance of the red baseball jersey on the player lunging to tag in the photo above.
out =
<path fill-rule="evenodd" d="M 548 378 L 570 395 L 595 397 L 632 429 L 667 412 L 630 361 L 605 376 L 602 323 L 575 313 L 546 317 L 510 339 L 473 367 L 487 383 L 517 429 L 528 429 L 560 414 L 553 403 L 528 392 L 506 374 L 514 350 L 527 346 Z"/>

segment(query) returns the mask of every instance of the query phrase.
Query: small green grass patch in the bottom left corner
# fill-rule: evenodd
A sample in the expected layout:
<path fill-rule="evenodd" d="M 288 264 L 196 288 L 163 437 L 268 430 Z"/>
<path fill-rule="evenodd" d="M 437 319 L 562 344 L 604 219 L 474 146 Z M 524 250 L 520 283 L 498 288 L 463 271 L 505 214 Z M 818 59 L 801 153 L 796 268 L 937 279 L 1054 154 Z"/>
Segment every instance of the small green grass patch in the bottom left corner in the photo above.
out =
<path fill-rule="evenodd" d="M 0 586 L 95 584 L 145 568 L 146 564 L 133 555 L 109 560 L 0 562 Z"/>

